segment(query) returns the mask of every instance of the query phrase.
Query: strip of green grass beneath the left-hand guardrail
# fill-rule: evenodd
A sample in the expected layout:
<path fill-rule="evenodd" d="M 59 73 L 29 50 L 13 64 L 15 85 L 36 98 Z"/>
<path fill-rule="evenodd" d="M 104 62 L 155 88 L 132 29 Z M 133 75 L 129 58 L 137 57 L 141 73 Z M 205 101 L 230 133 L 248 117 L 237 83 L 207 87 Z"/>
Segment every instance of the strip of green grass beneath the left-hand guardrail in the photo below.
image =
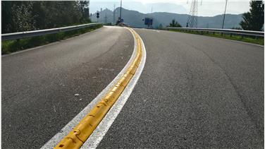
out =
<path fill-rule="evenodd" d="M 19 40 L 6 40 L 1 41 L 1 54 L 10 54 L 12 52 L 18 52 L 23 49 L 41 46 L 49 44 L 51 42 L 57 42 L 60 40 L 66 40 L 69 37 L 81 35 L 85 32 L 90 32 L 97 28 L 101 28 L 102 25 L 94 25 L 79 30 L 71 30 L 68 32 L 58 32 L 56 34 L 42 35 L 36 37 L 21 38 Z"/>

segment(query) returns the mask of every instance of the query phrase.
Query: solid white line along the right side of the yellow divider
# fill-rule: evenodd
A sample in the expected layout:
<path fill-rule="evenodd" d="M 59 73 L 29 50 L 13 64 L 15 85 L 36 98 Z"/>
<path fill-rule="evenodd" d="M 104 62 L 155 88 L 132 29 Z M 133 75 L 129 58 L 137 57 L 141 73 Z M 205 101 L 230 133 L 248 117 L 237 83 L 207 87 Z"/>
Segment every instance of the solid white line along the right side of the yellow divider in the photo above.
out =
<path fill-rule="evenodd" d="M 142 42 L 141 37 L 140 37 L 140 42 Z M 144 42 L 142 42 L 142 60 L 137 68 L 137 71 L 135 72 L 135 75 L 132 76 L 130 83 L 128 83 L 126 88 L 123 90 L 123 93 L 121 93 L 121 96 L 118 97 L 118 100 L 115 102 L 115 104 L 111 107 L 111 109 L 106 114 L 104 119 L 101 120 L 97 128 L 90 135 L 90 138 L 88 138 L 87 141 L 85 141 L 85 143 L 82 145 L 81 147 L 82 149 L 97 148 L 97 145 L 99 145 L 100 141 L 111 127 L 111 124 L 116 119 L 118 114 L 121 112 L 121 109 L 123 109 L 123 105 L 125 105 L 125 102 L 130 97 L 130 93 L 132 93 L 133 88 L 135 88 L 135 85 L 138 79 L 140 78 L 140 75 L 144 68 L 145 60 L 146 60 L 146 52 L 145 52 Z"/>

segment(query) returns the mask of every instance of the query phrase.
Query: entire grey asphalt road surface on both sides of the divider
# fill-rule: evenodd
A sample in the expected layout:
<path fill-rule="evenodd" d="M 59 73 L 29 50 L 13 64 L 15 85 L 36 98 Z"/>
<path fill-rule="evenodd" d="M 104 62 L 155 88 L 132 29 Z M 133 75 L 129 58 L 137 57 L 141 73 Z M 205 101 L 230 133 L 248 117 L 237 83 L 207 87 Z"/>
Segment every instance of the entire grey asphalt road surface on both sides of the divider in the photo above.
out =
<path fill-rule="evenodd" d="M 135 30 L 147 61 L 98 148 L 263 148 L 264 47 Z M 132 50 L 128 30 L 104 27 L 2 57 L 2 148 L 44 145 L 112 81 Z"/>

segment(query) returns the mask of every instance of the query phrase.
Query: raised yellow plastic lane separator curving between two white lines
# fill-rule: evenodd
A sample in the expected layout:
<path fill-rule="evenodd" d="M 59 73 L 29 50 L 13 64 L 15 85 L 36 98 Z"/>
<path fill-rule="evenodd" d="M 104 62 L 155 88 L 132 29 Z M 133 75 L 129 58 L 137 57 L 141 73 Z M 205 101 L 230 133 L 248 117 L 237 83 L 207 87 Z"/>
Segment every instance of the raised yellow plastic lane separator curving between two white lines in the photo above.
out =
<path fill-rule="evenodd" d="M 137 52 L 132 63 L 128 66 L 127 71 L 123 74 L 121 79 L 109 90 L 108 93 L 97 103 L 95 107 L 79 122 L 75 128 L 68 133 L 57 145 L 56 149 L 62 148 L 80 148 L 83 143 L 90 137 L 94 129 L 97 128 L 100 121 L 104 118 L 112 105 L 116 102 L 118 97 L 125 89 L 125 87 L 130 82 L 130 79 L 135 74 L 140 61 L 142 59 L 142 43 L 140 42 L 140 37 L 135 33 L 134 30 L 128 28 L 130 32 L 135 37 L 135 42 L 137 45 Z"/>

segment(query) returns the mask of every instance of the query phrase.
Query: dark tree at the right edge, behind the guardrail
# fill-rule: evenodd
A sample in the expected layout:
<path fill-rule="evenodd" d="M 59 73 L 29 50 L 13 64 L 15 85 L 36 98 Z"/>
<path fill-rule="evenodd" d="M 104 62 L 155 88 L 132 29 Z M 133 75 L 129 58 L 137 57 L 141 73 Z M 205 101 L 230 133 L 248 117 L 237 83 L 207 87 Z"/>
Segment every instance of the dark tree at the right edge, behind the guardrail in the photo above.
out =
<path fill-rule="evenodd" d="M 240 25 L 243 30 L 262 30 L 264 25 L 264 2 L 250 1 L 250 10 L 242 14 Z"/>

